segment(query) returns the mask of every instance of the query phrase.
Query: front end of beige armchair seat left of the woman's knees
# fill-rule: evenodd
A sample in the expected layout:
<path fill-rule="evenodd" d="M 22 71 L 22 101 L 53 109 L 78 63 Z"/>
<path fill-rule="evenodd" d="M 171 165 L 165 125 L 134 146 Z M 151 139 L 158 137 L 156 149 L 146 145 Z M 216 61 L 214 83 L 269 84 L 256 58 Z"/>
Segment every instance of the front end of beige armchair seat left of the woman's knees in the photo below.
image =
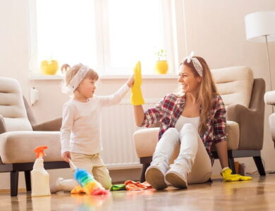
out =
<path fill-rule="evenodd" d="M 133 134 L 138 158 L 150 157 L 157 146 L 159 127 L 139 129 Z"/>

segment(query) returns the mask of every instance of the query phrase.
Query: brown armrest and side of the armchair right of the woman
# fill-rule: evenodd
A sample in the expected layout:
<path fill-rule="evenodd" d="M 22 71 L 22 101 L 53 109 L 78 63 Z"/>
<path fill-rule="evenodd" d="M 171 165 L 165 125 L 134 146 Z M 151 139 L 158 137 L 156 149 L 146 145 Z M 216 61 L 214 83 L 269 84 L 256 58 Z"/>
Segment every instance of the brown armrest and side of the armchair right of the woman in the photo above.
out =
<path fill-rule="evenodd" d="M 226 119 L 239 124 L 239 150 L 262 150 L 264 115 L 260 111 L 234 104 L 227 106 Z"/>

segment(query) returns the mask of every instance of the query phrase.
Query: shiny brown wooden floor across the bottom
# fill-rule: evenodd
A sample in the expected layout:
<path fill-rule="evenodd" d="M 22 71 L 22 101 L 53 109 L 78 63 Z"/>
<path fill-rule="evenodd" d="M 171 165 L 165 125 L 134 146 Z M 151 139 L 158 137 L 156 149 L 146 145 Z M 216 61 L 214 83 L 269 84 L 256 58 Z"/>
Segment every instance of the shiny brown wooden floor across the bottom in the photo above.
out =
<path fill-rule="evenodd" d="M 222 182 L 164 191 L 116 191 L 110 196 L 71 196 L 69 193 L 32 198 L 0 193 L 0 210 L 275 210 L 275 175 L 252 181 Z"/>

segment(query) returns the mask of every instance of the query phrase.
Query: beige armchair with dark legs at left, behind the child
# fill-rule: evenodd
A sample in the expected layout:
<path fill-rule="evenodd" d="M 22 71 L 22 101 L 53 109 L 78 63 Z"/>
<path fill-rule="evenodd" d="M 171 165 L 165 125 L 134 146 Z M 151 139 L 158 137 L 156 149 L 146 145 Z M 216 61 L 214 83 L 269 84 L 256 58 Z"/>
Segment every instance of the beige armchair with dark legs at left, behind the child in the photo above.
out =
<path fill-rule="evenodd" d="M 11 196 L 17 196 L 20 171 L 25 172 L 26 189 L 31 191 L 30 170 L 37 146 L 49 147 L 45 151 L 45 169 L 69 167 L 60 153 L 61 121 L 57 118 L 36 124 L 18 81 L 0 77 L 0 172 L 11 172 Z"/>

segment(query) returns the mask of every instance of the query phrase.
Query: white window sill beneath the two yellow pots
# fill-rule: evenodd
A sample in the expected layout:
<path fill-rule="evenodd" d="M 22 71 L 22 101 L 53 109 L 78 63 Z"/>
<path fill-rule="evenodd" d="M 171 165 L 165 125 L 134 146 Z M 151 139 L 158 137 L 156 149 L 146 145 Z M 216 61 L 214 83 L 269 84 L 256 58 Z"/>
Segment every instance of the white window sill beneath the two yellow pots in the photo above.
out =
<path fill-rule="evenodd" d="M 100 79 L 128 79 L 130 75 L 102 75 Z M 62 80 L 63 75 L 44 75 L 30 73 L 30 80 Z M 164 74 L 164 75 L 142 75 L 142 79 L 177 79 L 176 74 Z"/>

